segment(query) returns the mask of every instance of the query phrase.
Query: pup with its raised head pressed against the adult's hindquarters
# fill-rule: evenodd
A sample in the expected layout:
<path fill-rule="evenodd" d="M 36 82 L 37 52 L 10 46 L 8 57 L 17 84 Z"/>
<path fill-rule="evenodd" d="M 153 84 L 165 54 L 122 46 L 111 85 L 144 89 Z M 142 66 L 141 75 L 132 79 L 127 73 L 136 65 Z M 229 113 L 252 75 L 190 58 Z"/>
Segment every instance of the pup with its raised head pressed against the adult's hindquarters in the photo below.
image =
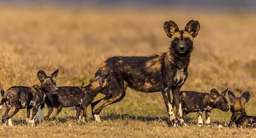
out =
<path fill-rule="evenodd" d="M 76 120 L 81 121 L 81 109 L 82 109 L 82 120 L 85 121 L 87 118 L 86 110 L 87 107 L 94 100 L 94 97 L 98 94 L 100 89 L 107 88 L 108 74 L 101 75 L 98 71 L 94 75 L 94 79 L 90 80 L 87 86 L 63 86 L 58 87 L 59 91 L 56 93 L 46 93 L 45 103 L 48 108 L 47 118 L 53 120 L 56 115 L 62 110 L 63 107 L 76 107 Z M 109 90 L 107 90 L 108 92 Z M 102 91 L 104 92 L 104 91 Z M 107 94 L 107 93 L 103 93 Z M 43 106 L 42 106 L 43 107 Z M 54 108 L 57 109 L 56 113 L 53 113 Z M 41 108 L 41 111 L 43 108 Z M 42 113 L 40 113 L 42 116 Z M 41 118 L 41 117 L 39 117 Z"/>

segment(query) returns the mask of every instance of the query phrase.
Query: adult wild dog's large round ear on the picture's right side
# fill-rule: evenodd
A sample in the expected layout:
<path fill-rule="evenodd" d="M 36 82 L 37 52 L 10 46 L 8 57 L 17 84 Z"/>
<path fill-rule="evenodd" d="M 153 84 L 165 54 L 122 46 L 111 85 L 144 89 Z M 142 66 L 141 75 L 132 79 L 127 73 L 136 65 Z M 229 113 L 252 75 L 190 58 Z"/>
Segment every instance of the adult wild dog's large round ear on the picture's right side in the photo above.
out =
<path fill-rule="evenodd" d="M 184 31 L 187 31 L 193 38 L 195 38 L 200 30 L 200 24 L 196 20 L 190 20 L 185 27 Z"/>

